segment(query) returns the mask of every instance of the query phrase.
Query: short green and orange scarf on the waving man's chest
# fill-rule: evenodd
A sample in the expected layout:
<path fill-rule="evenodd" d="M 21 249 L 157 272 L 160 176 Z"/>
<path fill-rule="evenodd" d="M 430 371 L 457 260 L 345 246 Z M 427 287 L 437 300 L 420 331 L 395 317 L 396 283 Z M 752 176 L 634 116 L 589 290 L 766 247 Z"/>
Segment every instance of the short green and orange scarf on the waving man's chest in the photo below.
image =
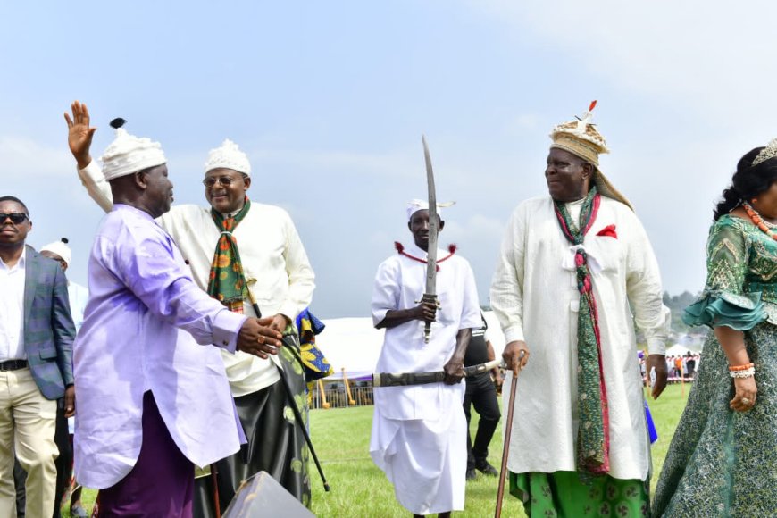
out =
<path fill-rule="evenodd" d="M 208 295 L 219 300 L 235 313 L 243 313 L 243 301 L 248 297 L 248 288 L 246 276 L 243 273 L 243 263 L 240 262 L 238 240 L 232 232 L 238 223 L 243 221 L 250 208 L 251 202 L 248 196 L 243 208 L 229 218 L 225 218 L 220 212 L 211 208 L 211 216 L 216 227 L 221 230 L 221 236 L 213 253 Z"/>

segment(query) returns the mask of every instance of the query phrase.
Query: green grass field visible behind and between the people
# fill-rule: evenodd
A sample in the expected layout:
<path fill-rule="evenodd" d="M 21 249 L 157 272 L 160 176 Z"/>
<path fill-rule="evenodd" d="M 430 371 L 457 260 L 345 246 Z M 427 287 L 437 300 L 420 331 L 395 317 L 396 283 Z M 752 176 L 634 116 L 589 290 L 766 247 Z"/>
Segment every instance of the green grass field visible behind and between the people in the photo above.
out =
<path fill-rule="evenodd" d="M 653 483 L 664 465 L 664 456 L 680 420 L 688 397 L 689 385 L 671 385 L 657 401 L 649 400 L 650 410 L 656 422 L 659 439 L 653 446 Z M 477 426 L 477 414 L 473 414 L 472 430 Z M 516 417 L 517 418 L 517 417 Z M 313 485 L 312 511 L 322 518 L 347 517 L 407 517 L 394 497 L 394 490 L 383 472 L 372 464 L 369 455 L 372 406 L 314 410 L 310 416 L 313 445 L 322 461 L 322 467 L 330 483 L 330 492 L 324 492 L 321 479 L 311 463 L 310 477 Z M 502 430 L 491 441 L 489 462 L 499 467 L 502 454 Z M 84 504 L 91 508 L 95 491 L 84 492 Z M 497 499 L 497 478 L 479 478 L 467 483 L 465 508 L 461 517 L 482 517 L 494 513 Z M 505 516 L 523 516 L 522 506 L 505 495 Z M 69 516 L 69 514 L 64 514 Z"/>

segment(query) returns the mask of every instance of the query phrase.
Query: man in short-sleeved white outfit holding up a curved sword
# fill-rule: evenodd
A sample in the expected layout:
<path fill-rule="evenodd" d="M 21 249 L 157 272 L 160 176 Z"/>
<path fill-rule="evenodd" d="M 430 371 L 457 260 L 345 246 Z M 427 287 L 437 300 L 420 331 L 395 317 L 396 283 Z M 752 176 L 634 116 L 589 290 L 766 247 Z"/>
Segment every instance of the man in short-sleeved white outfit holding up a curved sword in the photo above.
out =
<path fill-rule="evenodd" d="M 445 383 L 375 388 L 370 454 L 414 515 L 464 509 L 467 464 L 464 353 L 480 306 L 470 264 L 455 248 L 438 251 L 439 307 L 423 298 L 429 247 L 428 205 L 411 202 L 407 226 L 414 243 L 378 267 L 372 322 L 385 328 L 379 372 L 445 371 Z M 439 221 L 439 230 L 444 221 Z M 418 301 L 422 301 L 421 304 Z M 429 343 L 424 324 L 431 322 Z"/>

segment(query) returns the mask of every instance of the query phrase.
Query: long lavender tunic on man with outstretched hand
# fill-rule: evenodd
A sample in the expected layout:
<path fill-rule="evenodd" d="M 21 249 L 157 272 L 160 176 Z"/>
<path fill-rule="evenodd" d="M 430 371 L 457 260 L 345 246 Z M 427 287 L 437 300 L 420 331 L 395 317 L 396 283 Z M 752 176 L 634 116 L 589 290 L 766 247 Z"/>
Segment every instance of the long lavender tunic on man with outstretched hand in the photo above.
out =
<path fill-rule="evenodd" d="M 128 205 L 115 205 L 97 230 L 88 283 L 73 347 L 76 479 L 104 489 L 129 473 L 146 390 L 194 464 L 237 452 L 243 433 L 221 354 L 210 345 L 234 352 L 245 317 L 197 288 L 172 238 Z"/>

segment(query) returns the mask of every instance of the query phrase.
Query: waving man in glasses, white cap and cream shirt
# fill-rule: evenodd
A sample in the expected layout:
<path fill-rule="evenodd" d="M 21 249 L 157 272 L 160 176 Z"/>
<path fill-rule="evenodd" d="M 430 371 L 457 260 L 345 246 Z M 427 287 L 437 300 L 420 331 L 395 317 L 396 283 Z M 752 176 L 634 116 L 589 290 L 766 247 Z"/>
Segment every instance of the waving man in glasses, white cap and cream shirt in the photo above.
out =
<path fill-rule="evenodd" d="M 71 106 L 71 152 L 89 196 L 105 211 L 113 205 L 89 146 L 85 104 Z M 157 219 L 180 247 L 197 285 L 238 313 L 272 317 L 272 329 L 290 337 L 297 314 L 310 305 L 314 275 L 305 248 L 288 213 L 280 207 L 248 199 L 251 164 L 230 140 L 213 149 L 205 163 L 205 199 L 210 206 L 176 205 Z M 259 471 L 269 472 L 305 505 L 310 503 L 307 450 L 302 430 L 286 419 L 288 395 L 280 372 L 288 380 L 300 411 L 306 416 L 305 379 L 283 347 L 272 359 L 222 355 L 238 415 L 248 444 L 237 455 L 217 464 L 221 512 L 240 482 Z M 197 480 L 195 516 L 214 516 L 213 480 Z"/>

